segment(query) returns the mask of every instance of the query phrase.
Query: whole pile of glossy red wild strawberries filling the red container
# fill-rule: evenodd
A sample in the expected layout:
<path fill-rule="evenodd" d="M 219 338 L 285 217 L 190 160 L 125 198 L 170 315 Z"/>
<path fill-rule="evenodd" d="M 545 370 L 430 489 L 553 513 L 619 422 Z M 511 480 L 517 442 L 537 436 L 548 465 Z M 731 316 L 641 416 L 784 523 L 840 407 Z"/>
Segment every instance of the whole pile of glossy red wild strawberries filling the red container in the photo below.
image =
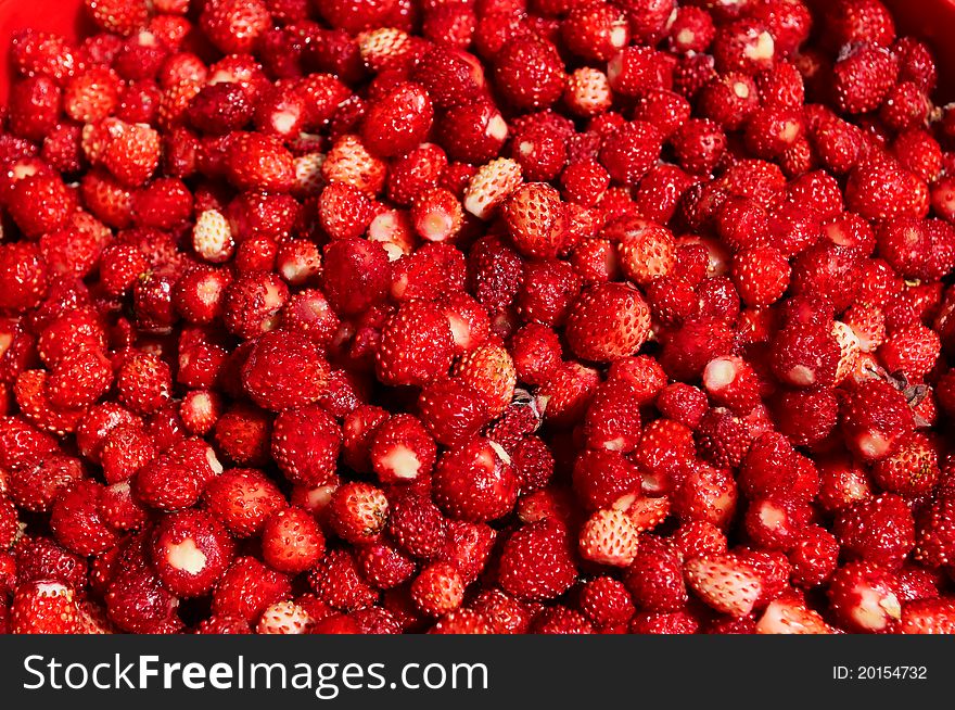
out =
<path fill-rule="evenodd" d="M 955 106 L 829 4 L 18 33 L 0 629 L 955 632 Z"/>

